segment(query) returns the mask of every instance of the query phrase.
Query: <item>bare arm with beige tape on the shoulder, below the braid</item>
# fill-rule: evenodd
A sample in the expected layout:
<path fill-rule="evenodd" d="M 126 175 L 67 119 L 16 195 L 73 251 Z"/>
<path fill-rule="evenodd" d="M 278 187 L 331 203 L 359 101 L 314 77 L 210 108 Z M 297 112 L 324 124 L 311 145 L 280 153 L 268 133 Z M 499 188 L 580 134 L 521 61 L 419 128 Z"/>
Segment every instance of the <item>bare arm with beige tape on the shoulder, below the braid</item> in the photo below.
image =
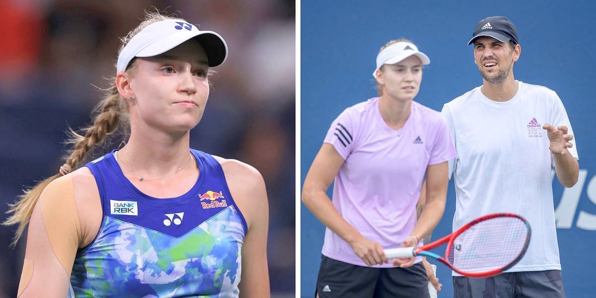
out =
<path fill-rule="evenodd" d="M 71 174 L 52 181 L 33 209 L 18 297 L 67 297 L 80 240 Z"/>

